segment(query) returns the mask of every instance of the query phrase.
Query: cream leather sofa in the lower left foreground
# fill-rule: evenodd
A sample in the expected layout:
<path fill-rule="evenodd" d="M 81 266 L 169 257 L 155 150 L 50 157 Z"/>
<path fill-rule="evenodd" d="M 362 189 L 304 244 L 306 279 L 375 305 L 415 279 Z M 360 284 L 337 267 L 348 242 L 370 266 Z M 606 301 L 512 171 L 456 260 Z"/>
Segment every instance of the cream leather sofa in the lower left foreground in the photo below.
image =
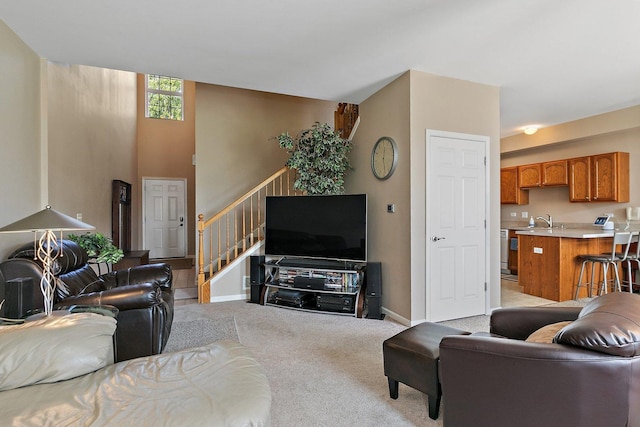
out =
<path fill-rule="evenodd" d="M 1 326 L 2 425 L 270 425 L 267 377 L 242 344 L 113 364 L 114 331 L 95 313 Z"/>

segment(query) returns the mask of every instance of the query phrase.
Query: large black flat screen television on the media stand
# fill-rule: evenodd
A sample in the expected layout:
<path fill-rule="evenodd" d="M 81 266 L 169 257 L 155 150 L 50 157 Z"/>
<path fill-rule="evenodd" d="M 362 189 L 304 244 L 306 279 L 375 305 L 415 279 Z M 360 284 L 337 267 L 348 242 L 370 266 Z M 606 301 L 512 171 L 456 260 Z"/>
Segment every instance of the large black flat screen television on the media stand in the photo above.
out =
<path fill-rule="evenodd" d="M 367 260 L 367 195 L 269 196 L 265 255 Z"/>

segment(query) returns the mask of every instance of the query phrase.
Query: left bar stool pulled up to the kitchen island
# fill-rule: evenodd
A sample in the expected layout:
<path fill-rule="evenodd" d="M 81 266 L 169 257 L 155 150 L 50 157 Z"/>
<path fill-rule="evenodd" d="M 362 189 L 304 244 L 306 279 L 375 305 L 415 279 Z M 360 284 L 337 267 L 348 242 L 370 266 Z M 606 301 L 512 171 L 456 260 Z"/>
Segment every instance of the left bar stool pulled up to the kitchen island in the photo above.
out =
<path fill-rule="evenodd" d="M 593 296 L 592 289 L 595 280 L 595 271 L 596 264 L 599 264 L 602 269 L 602 284 L 600 286 L 600 291 L 598 295 L 606 294 L 608 288 L 608 279 L 607 274 L 609 272 L 609 266 L 613 267 L 614 279 L 613 284 L 615 290 L 621 291 L 622 286 L 620 284 L 620 274 L 618 273 L 618 264 L 622 264 L 622 262 L 626 261 L 627 255 L 629 254 L 629 246 L 631 246 L 631 238 L 635 233 L 630 231 L 621 231 L 613 234 L 613 244 L 611 248 L 611 253 L 604 254 L 585 254 L 579 255 L 580 259 L 582 259 L 582 268 L 580 268 L 580 276 L 578 278 L 578 285 L 576 286 L 576 294 L 573 299 L 578 299 L 578 294 L 580 293 L 580 287 L 588 286 L 588 295 L 589 297 Z M 618 245 L 622 245 L 622 252 L 616 252 L 616 247 Z M 584 274 L 584 268 L 587 263 L 591 263 L 591 281 L 588 283 L 582 283 L 582 276 Z"/>

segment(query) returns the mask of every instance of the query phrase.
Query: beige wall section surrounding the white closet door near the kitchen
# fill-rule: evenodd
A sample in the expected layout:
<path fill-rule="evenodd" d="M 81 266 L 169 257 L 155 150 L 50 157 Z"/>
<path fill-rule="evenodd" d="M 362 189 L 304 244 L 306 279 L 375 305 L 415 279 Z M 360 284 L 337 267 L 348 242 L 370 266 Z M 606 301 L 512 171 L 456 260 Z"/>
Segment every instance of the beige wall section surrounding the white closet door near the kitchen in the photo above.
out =
<path fill-rule="evenodd" d="M 487 236 L 489 241 L 487 311 L 500 306 L 500 89 L 432 74 L 411 72 L 411 204 L 412 204 L 412 319 L 429 318 L 423 294 L 426 269 L 426 152 L 425 131 L 459 132 L 489 137 L 487 152 L 488 200 Z M 428 268 L 428 266 L 427 266 Z M 426 296 L 425 296 L 426 297 Z"/>

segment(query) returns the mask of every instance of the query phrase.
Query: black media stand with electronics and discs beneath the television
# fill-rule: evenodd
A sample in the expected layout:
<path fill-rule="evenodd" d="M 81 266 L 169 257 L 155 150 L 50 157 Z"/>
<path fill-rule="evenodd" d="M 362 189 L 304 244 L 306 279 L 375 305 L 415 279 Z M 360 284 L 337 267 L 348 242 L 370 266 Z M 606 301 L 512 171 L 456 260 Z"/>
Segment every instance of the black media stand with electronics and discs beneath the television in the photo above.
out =
<path fill-rule="evenodd" d="M 362 317 L 364 266 L 266 262 L 264 305 Z"/>

